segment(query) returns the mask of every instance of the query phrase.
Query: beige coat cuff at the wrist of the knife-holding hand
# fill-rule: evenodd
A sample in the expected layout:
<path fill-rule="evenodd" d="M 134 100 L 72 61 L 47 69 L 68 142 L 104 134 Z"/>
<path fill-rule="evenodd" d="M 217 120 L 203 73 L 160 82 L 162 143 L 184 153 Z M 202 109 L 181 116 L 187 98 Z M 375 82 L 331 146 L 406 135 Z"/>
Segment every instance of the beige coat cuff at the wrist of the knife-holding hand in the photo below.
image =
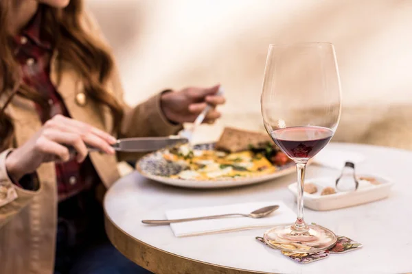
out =
<path fill-rule="evenodd" d="M 0 207 L 8 204 L 19 197 L 12 179 L 5 169 L 5 158 L 12 149 L 7 149 L 0 153 Z"/>

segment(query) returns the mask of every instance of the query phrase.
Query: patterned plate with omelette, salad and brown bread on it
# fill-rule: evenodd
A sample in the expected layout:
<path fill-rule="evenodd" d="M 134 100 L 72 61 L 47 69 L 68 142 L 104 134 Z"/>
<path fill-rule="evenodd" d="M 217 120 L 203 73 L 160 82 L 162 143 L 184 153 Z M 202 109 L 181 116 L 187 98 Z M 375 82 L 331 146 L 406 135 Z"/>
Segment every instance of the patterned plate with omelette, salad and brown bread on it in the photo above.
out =
<path fill-rule="evenodd" d="M 217 142 L 161 149 L 141 158 L 136 169 L 163 184 L 226 188 L 294 173 L 295 164 L 267 134 L 226 127 Z"/>

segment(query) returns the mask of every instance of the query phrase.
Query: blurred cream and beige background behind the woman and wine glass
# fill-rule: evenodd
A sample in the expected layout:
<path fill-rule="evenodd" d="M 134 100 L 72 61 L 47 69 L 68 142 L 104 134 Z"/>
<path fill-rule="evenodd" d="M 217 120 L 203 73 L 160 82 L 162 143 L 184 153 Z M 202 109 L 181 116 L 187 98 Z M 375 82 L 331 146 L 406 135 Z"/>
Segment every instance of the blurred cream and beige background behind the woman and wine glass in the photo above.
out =
<path fill-rule="evenodd" d="M 225 125 L 263 130 L 268 45 L 332 42 L 343 113 L 335 140 L 412 149 L 412 1 L 86 0 L 130 104 L 164 88 L 221 83 Z M 203 133 L 198 134 L 199 140 Z M 203 139 L 202 139 L 203 140 Z"/>

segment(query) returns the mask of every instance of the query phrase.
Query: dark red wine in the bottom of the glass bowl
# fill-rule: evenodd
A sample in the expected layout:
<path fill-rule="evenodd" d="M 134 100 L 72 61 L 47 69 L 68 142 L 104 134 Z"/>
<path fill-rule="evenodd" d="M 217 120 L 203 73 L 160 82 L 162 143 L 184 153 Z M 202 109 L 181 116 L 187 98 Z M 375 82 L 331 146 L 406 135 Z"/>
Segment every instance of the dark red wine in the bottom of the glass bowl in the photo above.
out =
<path fill-rule="evenodd" d="M 326 127 L 286 127 L 273 130 L 271 136 L 290 158 L 308 160 L 328 144 L 333 133 Z"/>

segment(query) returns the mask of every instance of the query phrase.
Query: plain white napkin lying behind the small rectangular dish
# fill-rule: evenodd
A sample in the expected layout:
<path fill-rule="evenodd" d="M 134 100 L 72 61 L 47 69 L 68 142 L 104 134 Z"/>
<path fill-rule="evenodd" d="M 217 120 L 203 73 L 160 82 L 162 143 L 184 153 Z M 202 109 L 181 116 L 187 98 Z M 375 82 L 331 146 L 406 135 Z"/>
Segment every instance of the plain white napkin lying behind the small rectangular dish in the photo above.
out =
<path fill-rule="evenodd" d="M 325 149 L 313 158 L 315 164 L 328 166 L 332 169 L 343 169 L 345 162 L 358 164 L 364 160 L 365 156 L 361 153 L 334 149 Z"/>

